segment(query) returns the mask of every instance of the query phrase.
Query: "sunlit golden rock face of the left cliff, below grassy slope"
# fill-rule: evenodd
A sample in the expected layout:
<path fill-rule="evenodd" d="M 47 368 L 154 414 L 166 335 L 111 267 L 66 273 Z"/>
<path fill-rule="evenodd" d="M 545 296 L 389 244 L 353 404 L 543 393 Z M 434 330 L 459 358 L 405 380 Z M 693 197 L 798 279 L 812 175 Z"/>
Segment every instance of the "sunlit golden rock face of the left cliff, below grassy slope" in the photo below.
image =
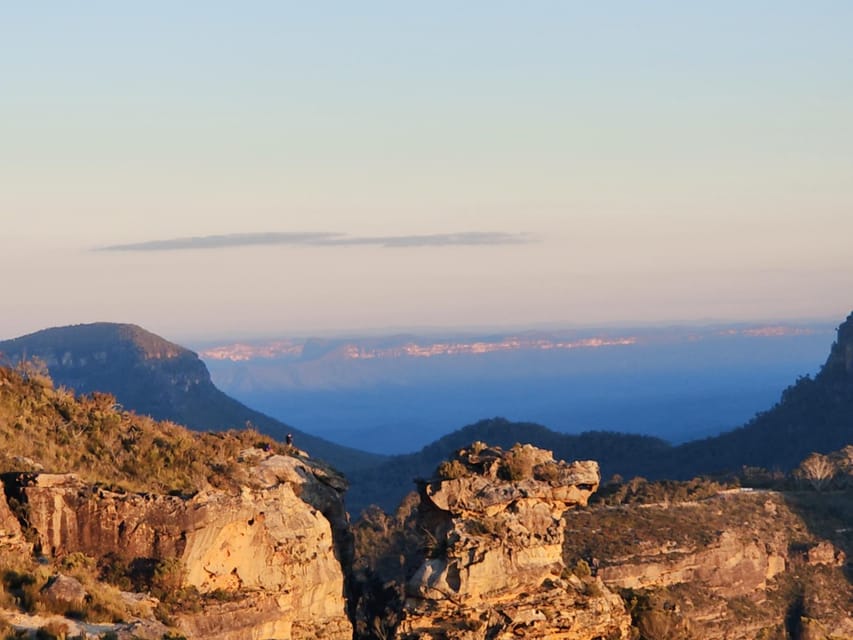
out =
<path fill-rule="evenodd" d="M 349 640 L 339 560 L 346 551 L 333 532 L 346 527 L 340 479 L 296 457 L 244 456 L 252 481 L 239 495 L 119 494 L 47 474 L 21 477 L 11 491 L 44 554 L 177 559 L 182 584 L 233 594 L 178 615 L 191 637 Z"/>

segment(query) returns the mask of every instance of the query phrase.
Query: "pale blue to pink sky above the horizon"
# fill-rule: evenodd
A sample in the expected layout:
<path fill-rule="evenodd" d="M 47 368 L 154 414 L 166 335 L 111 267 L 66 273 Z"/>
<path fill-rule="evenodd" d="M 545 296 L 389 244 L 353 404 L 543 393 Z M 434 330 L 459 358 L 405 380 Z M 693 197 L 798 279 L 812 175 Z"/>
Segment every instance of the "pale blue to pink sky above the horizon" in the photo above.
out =
<path fill-rule="evenodd" d="M 853 3 L 0 8 L 0 338 L 837 318 Z"/>

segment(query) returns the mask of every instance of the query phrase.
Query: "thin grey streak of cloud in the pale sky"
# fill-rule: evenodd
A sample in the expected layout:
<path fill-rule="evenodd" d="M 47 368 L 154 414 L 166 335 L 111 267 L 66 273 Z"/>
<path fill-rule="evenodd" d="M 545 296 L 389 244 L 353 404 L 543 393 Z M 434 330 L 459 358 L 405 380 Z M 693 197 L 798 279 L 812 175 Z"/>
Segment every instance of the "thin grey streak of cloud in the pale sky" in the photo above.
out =
<path fill-rule="evenodd" d="M 215 236 L 168 238 L 129 244 L 97 247 L 95 251 L 188 251 L 230 249 L 234 247 L 356 247 L 376 246 L 386 249 L 403 247 L 477 247 L 530 244 L 536 238 L 527 233 L 501 231 L 463 231 L 404 236 L 355 236 L 333 232 L 265 232 L 229 233 Z"/>

